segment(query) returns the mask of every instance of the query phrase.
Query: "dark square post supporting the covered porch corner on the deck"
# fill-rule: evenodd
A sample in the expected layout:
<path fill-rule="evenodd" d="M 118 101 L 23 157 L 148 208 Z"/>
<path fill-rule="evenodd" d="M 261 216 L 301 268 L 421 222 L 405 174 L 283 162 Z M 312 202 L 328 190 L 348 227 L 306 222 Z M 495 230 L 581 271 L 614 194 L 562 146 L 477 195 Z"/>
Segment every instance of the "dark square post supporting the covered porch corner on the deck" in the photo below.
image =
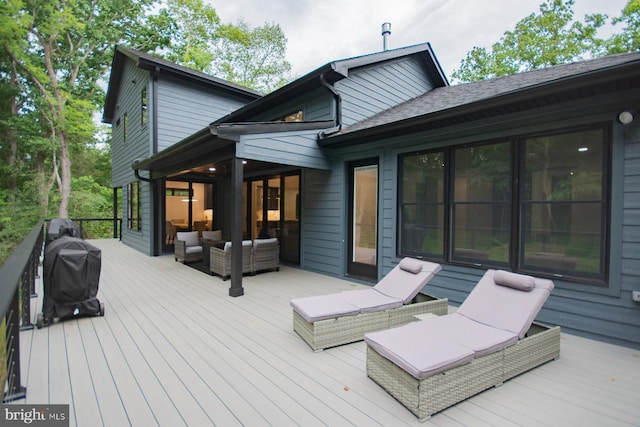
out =
<path fill-rule="evenodd" d="M 229 296 L 244 295 L 242 288 L 242 159 L 232 160 L 231 192 L 233 197 L 233 226 L 231 229 L 231 287 Z"/>

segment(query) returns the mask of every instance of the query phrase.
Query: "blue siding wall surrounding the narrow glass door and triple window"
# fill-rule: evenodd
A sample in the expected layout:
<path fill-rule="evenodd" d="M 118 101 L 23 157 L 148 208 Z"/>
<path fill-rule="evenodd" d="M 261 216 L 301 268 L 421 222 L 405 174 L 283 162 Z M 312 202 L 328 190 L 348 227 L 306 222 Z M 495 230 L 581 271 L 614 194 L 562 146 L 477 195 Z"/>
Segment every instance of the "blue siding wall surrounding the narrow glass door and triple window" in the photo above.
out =
<path fill-rule="evenodd" d="M 539 320 L 560 325 L 569 333 L 640 348 L 640 304 L 631 292 L 640 283 L 640 124 L 621 125 L 618 113 L 634 105 L 636 90 L 620 95 L 579 100 L 556 107 L 511 114 L 421 134 L 335 150 L 332 170 L 306 171 L 303 179 L 302 267 L 345 276 L 346 164 L 356 159 L 380 160 L 379 277 L 400 260 L 398 256 L 398 156 L 436 147 L 491 141 L 504 137 L 561 131 L 567 128 L 609 123 L 612 133 L 609 281 L 595 286 L 555 279 L 556 288 Z M 386 147 L 376 149 L 374 147 Z M 486 268 L 443 263 L 443 270 L 425 292 L 460 304 Z"/>

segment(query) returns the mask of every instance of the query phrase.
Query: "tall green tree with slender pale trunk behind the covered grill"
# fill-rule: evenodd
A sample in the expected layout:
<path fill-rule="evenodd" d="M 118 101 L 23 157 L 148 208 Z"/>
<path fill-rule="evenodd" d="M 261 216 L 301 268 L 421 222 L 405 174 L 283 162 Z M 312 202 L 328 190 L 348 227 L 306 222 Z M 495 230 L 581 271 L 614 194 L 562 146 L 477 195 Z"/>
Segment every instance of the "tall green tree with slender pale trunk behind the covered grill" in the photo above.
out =
<path fill-rule="evenodd" d="M 67 217 L 72 152 L 92 141 L 93 113 L 104 97 L 98 86 L 112 47 L 144 24 L 150 0 L 7 0 L 0 26 L 11 24 L 1 48 L 24 80 L 28 107 L 38 113 L 50 141 L 47 163 L 59 193 L 58 216 Z M 36 156 L 39 157 L 39 156 Z M 41 200 L 41 203 L 46 201 Z"/>

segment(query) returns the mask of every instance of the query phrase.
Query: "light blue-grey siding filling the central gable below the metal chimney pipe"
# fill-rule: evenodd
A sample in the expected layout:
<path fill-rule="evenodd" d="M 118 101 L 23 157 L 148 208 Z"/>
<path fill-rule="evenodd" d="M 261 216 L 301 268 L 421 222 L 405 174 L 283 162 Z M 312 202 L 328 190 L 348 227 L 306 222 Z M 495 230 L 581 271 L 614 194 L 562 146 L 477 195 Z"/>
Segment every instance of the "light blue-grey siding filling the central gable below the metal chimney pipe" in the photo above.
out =
<path fill-rule="evenodd" d="M 416 58 L 407 57 L 349 71 L 336 82 L 342 122 L 352 125 L 434 88 Z"/>

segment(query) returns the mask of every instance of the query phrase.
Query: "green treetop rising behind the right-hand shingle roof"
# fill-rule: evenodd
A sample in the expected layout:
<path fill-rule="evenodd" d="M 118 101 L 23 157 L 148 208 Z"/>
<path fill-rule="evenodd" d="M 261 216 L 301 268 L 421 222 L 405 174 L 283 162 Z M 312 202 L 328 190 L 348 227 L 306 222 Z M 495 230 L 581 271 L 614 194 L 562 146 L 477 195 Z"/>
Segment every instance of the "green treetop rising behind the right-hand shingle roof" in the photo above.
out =
<path fill-rule="evenodd" d="M 607 15 L 596 13 L 586 15 L 584 22 L 574 21 L 573 4 L 573 0 L 542 3 L 539 14 L 519 21 L 490 51 L 474 47 L 453 78 L 472 82 L 605 54 L 606 43 L 596 33 Z"/>

